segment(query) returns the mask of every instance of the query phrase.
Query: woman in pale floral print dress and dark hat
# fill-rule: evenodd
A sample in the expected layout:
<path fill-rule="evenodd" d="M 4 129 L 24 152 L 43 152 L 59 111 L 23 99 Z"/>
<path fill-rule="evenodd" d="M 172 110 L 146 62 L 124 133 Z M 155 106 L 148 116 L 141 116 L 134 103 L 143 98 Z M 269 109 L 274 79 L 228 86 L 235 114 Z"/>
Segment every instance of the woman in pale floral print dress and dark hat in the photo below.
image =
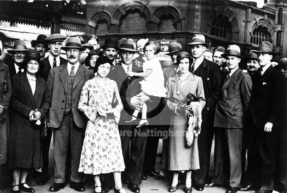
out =
<path fill-rule="evenodd" d="M 121 171 L 125 164 L 118 130 L 123 104 L 117 83 L 106 78 L 110 59 L 100 56 L 95 64 L 96 77 L 88 80 L 81 93 L 78 109 L 88 117 L 79 172 L 94 175 L 94 192 L 101 192 L 100 173 L 114 173 L 115 192 L 125 193 Z"/>

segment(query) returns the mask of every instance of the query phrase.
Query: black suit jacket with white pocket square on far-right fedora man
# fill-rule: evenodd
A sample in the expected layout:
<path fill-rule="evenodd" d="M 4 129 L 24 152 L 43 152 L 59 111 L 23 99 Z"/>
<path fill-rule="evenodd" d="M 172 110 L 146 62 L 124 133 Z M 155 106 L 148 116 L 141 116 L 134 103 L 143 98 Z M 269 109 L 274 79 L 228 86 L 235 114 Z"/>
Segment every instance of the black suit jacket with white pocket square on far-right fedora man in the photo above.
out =
<path fill-rule="evenodd" d="M 282 76 L 272 65 L 259 75 L 251 75 L 253 82 L 251 95 L 251 114 L 256 126 L 262 127 L 266 122 L 278 123 L 280 103 L 282 101 Z M 286 94 L 286 93 L 285 93 Z"/>

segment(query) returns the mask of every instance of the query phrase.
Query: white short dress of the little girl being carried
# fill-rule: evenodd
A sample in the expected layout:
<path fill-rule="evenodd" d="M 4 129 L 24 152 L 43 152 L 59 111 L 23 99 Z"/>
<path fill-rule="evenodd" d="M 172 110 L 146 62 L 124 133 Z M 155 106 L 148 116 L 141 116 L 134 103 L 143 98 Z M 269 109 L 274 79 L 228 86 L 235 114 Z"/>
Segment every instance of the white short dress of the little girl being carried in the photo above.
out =
<path fill-rule="evenodd" d="M 166 97 L 166 88 L 164 87 L 164 76 L 160 66 L 160 62 L 156 57 L 150 59 L 143 64 L 143 70 L 146 72 L 152 69 L 152 73 L 140 81 L 141 90 L 147 95 Z"/>

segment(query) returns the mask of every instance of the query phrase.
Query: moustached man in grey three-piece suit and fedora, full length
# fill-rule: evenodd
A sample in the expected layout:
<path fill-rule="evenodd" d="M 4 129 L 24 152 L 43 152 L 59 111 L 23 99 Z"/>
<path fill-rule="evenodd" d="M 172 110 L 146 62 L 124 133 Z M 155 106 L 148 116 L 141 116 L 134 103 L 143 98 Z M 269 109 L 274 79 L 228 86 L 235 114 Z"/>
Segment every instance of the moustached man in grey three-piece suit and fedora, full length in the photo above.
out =
<path fill-rule="evenodd" d="M 65 168 L 67 149 L 71 145 L 71 178 L 70 188 L 85 191 L 82 175 L 78 172 L 87 119 L 78 110 L 82 87 L 93 78 L 93 71 L 79 64 L 82 51 L 81 40 L 69 37 L 65 47 L 68 61 L 52 68 L 47 80 L 51 110 L 49 125 L 54 129 L 54 182 L 49 188 L 57 192 L 65 187 Z"/>

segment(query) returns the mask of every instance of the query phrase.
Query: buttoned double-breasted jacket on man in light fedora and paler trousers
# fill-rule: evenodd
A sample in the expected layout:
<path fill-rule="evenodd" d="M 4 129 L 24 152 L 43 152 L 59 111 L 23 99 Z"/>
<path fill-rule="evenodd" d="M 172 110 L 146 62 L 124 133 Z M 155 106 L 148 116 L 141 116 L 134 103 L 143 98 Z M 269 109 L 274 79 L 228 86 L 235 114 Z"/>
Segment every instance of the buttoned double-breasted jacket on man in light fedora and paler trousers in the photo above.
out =
<path fill-rule="evenodd" d="M 228 73 L 228 72 L 227 72 Z M 222 77 L 225 79 L 227 73 Z M 214 126 L 243 128 L 249 107 L 252 81 L 239 68 L 223 84 L 216 105 Z"/>

